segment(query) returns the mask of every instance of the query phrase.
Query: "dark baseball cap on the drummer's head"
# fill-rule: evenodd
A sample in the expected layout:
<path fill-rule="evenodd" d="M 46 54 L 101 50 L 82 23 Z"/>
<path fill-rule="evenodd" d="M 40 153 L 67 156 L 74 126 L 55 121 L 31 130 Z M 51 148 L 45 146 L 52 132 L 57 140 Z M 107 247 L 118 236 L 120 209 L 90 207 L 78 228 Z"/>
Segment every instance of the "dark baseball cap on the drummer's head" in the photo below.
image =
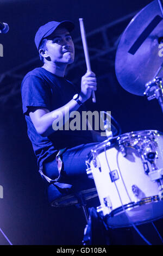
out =
<path fill-rule="evenodd" d="M 35 45 L 37 50 L 39 50 L 41 40 L 46 38 L 48 35 L 51 35 L 59 26 L 65 27 L 69 32 L 73 31 L 74 29 L 74 23 L 71 21 L 49 21 L 45 25 L 41 26 L 36 32 Z"/>

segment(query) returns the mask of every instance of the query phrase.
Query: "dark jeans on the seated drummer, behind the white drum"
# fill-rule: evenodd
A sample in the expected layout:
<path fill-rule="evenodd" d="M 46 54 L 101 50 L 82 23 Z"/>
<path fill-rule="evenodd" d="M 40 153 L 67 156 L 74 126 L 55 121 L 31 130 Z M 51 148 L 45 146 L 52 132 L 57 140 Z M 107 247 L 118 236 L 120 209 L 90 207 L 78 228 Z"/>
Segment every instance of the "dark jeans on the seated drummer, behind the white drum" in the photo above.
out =
<path fill-rule="evenodd" d="M 91 149 L 99 143 L 89 143 L 78 145 L 77 147 L 67 149 L 62 154 L 62 162 L 64 163 L 64 179 L 63 182 L 71 184 L 74 190 L 80 191 L 87 188 L 95 187 L 92 179 L 86 174 L 86 158 Z M 55 157 L 48 159 L 43 163 L 43 172 L 51 179 L 57 179 L 59 176 L 57 162 Z"/>

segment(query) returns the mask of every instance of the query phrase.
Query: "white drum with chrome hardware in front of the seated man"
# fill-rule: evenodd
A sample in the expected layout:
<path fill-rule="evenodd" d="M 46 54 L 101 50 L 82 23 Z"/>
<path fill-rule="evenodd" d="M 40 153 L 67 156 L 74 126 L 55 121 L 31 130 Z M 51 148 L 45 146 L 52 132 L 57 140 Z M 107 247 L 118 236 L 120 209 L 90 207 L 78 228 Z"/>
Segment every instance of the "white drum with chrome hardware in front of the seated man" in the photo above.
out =
<path fill-rule="evenodd" d="M 163 217 L 161 132 L 137 131 L 108 139 L 91 150 L 86 164 L 109 225 L 122 227 Z"/>

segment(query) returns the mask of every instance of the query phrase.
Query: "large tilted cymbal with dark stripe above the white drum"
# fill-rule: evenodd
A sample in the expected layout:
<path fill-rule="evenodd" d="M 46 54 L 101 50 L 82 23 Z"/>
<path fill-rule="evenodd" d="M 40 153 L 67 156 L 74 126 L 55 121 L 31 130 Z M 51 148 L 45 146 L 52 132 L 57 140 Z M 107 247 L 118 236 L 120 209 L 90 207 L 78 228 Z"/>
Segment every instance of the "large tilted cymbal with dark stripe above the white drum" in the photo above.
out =
<path fill-rule="evenodd" d="M 143 96 L 145 84 L 153 80 L 163 64 L 163 47 L 162 51 L 159 48 L 163 43 L 162 17 L 155 0 L 135 15 L 121 36 L 115 71 L 118 82 L 131 94 Z M 163 77 L 163 68 L 160 76 Z"/>

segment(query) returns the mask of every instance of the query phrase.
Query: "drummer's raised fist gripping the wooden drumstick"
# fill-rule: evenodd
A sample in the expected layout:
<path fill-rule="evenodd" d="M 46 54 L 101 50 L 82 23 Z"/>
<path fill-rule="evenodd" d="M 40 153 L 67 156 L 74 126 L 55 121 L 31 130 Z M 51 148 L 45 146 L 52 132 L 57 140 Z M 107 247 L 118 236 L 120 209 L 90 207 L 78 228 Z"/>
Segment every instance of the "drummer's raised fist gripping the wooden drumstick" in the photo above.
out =
<path fill-rule="evenodd" d="M 79 94 L 79 100 L 82 102 L 88 100 L 91 95 L 92 91 L 97 90 L 97 82 L 96 82 L 96 75 L 92 71 L 86 72 L 84 76 L 82 76 L 81 82 L 81 92 Z"/>

